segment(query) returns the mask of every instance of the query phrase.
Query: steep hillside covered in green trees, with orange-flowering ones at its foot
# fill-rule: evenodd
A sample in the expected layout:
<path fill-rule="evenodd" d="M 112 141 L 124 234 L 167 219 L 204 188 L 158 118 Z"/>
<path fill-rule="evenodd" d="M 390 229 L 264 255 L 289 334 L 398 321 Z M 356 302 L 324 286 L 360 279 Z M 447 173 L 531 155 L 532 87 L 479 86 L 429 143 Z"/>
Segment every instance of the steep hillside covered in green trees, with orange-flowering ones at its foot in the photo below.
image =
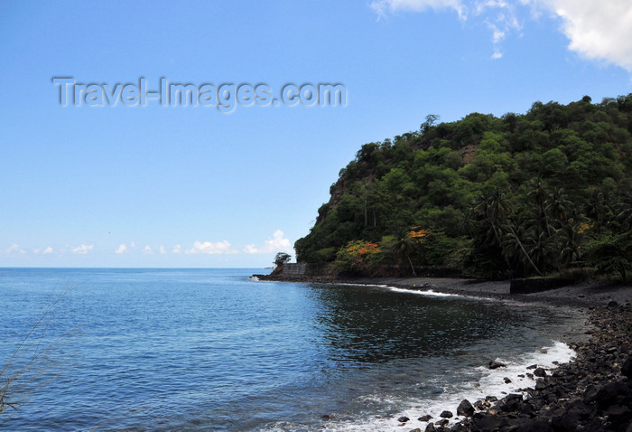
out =
<path fill-rule="evenodd" d="M 632 271 L 632 94 L 425 120 L 340 170 L 299 261 L 363 275 Z"/>

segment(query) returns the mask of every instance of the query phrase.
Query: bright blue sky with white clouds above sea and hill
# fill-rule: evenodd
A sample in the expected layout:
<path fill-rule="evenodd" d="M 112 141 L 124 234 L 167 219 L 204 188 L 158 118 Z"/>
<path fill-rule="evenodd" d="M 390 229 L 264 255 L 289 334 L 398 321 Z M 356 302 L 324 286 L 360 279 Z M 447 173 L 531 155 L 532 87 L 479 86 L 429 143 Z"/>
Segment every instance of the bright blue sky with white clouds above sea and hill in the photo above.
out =
<path fill-rule="evenodd" d="M 1 1 L 0 59 L 0 267 L 264 268 L 365 143 L 632 92 L 632 3 Z"/>

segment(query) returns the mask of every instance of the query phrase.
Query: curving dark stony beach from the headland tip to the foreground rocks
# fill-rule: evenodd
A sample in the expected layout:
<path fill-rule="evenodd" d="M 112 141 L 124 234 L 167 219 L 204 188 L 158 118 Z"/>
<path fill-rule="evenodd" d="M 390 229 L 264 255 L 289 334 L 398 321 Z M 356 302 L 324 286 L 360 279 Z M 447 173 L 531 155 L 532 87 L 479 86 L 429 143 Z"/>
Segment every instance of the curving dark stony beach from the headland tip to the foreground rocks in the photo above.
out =
<path fill-rule="evenodd" d="M 406 432 L 432 431 L 622 431 L 632 432 L 632 286 L 581 282 L 534 294 L 510 294 L 509 281 L 432 277 L 304 277 L 255 275 L 259 280 L 384 285 L 475 296 L 497 301 L 563 307 L 584 324 L 569 329 L 564 343 L 573 362 L 555 369 L 538 364 L 524 375 L 532 387 L 499 397 L 463 400 L 439 418 L 393 418 Z M 489 368 L 503 368 L 489 359 Z M 454 420 L 457 420 L 456 422 Z M 418 427 L 419 421 L 423 426 Z M 411 426 L 415 425 L 415 426 Z M 407 427 L 408 426 L 408 427 Z"/>

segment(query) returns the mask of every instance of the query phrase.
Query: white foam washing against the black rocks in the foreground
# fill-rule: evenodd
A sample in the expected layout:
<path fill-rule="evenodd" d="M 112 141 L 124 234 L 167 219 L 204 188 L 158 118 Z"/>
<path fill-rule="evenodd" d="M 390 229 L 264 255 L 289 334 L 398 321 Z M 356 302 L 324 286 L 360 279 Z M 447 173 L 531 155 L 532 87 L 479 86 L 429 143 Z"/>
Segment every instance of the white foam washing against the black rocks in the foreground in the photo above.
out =
<path fill-rule="evenodd" d="M 497 399 L 504 398 L 509 393 L 520 393 L 518 389 L 533 388 L 535 380 L 526 376 L 526 373 L 533 373 L 533 370 L 527 370 L 528 366 L 536 364 L 549 371 L 555 369 L 557 365 L 571 362 L 575 352 L 565 343 L 554 342 L 551 346 L 543 347 L 535 352 L 525 353 L 518 359 L 498 358 L 498 362 L 507 365 L 507 368 L 498 368 L 490 370 L 486 366 L 480 366 L 470 371 L 457 371 L 464 376 L 471 378 L 467 382 L 460 385 L 441 385 L 441 377 L 433 382 L 420 382 L 419 385 L 432 385 L 437 389 L 443 390 L 441 394 L 432 397 L 429 400 L 397 400 L 391 399 L 387 395 L 368 395 L 363 397 L 360 402 L 377 402 L 385 410 L 391 414 L 387 417 L 380 416 L 380 413 L 372 413 L 364 418 L 354 421 L 332 421 L 323 424 L 323 430 L 330 431 L 402 431 L 401 423 L 397 418 L 407 417 L 410 421 L 406 422 L 405 430 L 419 427 L 425 430 L 427 422 L 419 421 L 418 418 L 431 415 L 431 422 L 441 420 L 440 414 L 444 410 L 449 410 L 455 417 L 450 418 L 450 425 L 460 421 L 461 418 L 456 417 L 457 407 L 460 401 L 468 399 L 472 404 L 479 400 L 485 399 L 487 396 L 496 396 Z M 456 372 L 455 372 L 456 373 Z M 548 372 L 547 372 L 548 373 Z M 524 375 L 519 377 L 518 375 Z M 505 378 L 509 378 L 511 382 L 506 383 Z M 523 396 L 526 394 L 523 392 Z M 398 407 L 398 409 L 389 409 L 389 407 Z M 400 409 L 401 408 L 401 409 Z M 393 414 L 396 411 L 395 414 Z M 384 413 L 384 412 L 383 412 Z M 382 413 L 382 414 L 383 414 Z"/>

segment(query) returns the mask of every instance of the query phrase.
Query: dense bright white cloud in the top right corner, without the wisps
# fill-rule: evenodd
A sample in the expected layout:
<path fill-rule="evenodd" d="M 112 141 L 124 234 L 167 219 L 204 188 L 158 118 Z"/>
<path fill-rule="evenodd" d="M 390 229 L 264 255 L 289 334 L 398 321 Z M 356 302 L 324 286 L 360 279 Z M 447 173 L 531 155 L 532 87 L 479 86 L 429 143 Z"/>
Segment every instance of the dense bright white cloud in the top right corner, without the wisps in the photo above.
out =
<path fill-rule="evenodd" d="M 531 0 L 562 18 L 569 49 L 590 60 L 632 71 L 632 2 L 629 0 Z"/>

